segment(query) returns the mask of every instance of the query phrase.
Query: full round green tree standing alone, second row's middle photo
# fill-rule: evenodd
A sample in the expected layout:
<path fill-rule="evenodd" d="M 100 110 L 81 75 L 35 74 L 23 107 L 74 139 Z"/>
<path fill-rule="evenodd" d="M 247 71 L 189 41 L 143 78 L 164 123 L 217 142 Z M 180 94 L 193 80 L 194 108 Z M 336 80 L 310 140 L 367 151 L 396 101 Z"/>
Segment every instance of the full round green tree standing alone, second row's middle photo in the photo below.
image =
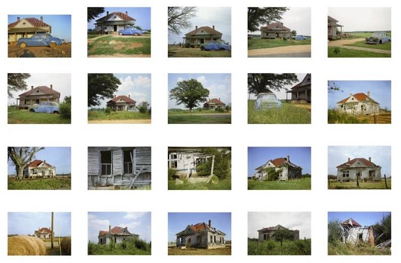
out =
<path fill-rule="evenodd" d="M 177 82 L 176 87 L 170 90 L 170 99 L 175 99 L 178 105 L 184 104 L 190 110 L 205 102 L 208 96 L 209 90 L 195 79 Z"/>

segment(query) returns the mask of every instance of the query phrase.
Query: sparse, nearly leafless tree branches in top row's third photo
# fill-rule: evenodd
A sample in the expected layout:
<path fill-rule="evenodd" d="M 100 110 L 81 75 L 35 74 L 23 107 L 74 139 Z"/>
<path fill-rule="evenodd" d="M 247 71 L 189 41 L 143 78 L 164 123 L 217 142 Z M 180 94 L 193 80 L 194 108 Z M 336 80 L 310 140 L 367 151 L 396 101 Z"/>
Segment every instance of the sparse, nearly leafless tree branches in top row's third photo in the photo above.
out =
<path fill-rule="evenodd" d="M 181 30 L 191 27 L 190 19 L 195 16 L 196 7 L 168 7 L 167 29 L 169 33 L 180 34 Z"/>

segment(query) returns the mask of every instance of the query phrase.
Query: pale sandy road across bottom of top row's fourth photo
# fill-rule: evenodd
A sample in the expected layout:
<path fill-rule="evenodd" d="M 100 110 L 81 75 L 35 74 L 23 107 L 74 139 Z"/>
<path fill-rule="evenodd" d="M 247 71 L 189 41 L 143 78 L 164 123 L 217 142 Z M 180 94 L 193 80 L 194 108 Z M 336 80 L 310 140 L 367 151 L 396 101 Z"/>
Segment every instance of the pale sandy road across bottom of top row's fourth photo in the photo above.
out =
<path fill-rule="evenodd" d="M 310 57 L 310 45 L 251 49 L 248 57 Z"/>

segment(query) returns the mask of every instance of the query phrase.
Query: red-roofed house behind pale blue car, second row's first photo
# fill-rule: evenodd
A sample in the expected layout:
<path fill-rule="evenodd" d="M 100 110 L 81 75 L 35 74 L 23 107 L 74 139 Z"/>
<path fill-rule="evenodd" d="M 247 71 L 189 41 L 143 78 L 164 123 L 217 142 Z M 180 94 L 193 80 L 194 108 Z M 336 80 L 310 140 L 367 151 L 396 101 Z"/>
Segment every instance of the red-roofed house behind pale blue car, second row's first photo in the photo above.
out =
<path fill-rule="evenodd" d="M 50 88 L 47 86 L 38 86 L 31 89 L 27 92 L 24 92 L 19 95 L 17 98 L 17 105 L 20 108 L 28 108 L 33 104 L 40 104 L 41 102 L 60 102 L 60 92 L 55 91 L 53 89 L 53 85 L 50 85 Z"/>

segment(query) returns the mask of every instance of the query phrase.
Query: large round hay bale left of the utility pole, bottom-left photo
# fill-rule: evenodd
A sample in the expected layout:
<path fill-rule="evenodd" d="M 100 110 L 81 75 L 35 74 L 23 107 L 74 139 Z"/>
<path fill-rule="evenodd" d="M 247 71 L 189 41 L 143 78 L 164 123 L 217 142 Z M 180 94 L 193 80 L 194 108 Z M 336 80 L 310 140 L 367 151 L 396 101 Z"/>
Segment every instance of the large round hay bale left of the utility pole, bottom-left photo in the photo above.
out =
<path fill-rule="evenodd" d="M 13 236 L 8 238 L 8 255 L 46 255 L 46 246 L 36 237 Z"/>

